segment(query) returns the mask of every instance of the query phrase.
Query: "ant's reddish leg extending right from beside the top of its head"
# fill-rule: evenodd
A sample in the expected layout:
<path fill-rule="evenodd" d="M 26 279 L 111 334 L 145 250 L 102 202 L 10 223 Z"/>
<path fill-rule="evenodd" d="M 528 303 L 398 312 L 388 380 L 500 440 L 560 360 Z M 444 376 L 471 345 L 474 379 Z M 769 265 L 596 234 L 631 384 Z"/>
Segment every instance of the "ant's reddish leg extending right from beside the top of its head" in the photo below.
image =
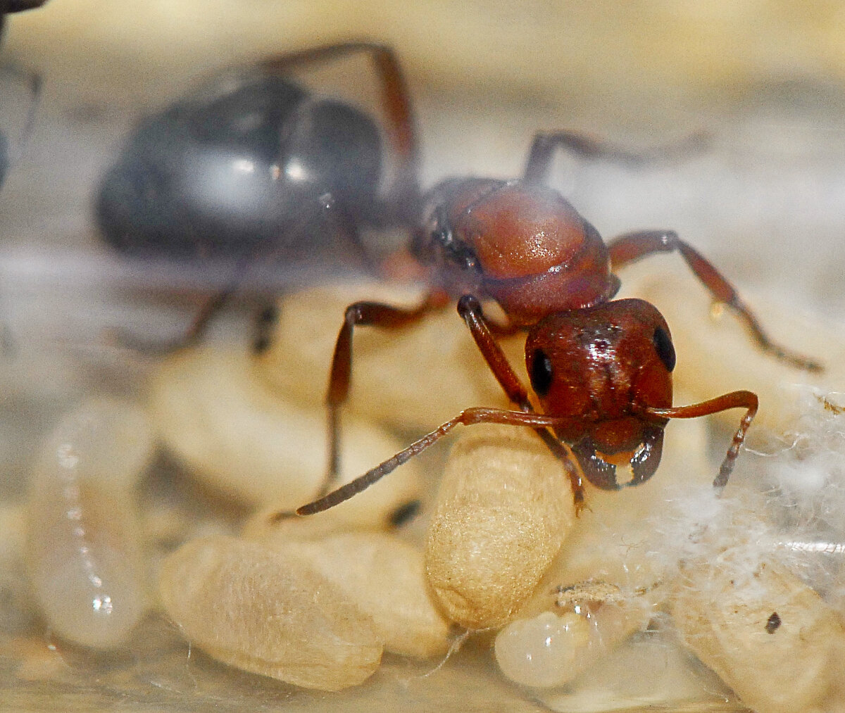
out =
<path fill-rule="evenodd" d="M 608 242 L 610 264 L 615 272 L 620 267 L 652 253 L 673 253 L 677 251 L 690 266 L 693 274 L 710 291 L 713 299 L 723 302 L 732 308 L 746 327 L 750 329 L 760 349 L 768 351 L 782 362 L 792 364 L 793 367 L 805 369 L 809 372 L 820 372 L 819 362 L 808 356 L 797 354 L 780 346 L 769 339 L 760 326 L 760 322 L 745 303 L 739 298 L 737 291 L 722 274 L 695 248 L 678 237 L 675 231 L 636 231 L 625 233 Z"/>

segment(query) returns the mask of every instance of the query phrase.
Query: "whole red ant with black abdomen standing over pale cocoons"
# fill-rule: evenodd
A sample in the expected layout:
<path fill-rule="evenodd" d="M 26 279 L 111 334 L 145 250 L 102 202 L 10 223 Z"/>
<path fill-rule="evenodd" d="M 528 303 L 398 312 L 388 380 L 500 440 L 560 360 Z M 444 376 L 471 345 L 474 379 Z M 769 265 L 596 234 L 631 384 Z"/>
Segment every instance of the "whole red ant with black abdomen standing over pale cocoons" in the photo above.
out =
<path fill-rule="evenodd" d="M 358 53 L 371 57 L 376 68 L 395 155 L 395 176 L 385 191 L 379 191 L 383 155 L 373 120 L 286 78 L 292 69 Z M 355 327 L 401 328 L 457 300 L 482 356 L 520 410 L 463 411 L 299 514 L 341 503 L 455 426 L 480 422 L 534 427 L 564 463 L 581 503 L 582 475 L 611 490 L 649 479 L 660 462 L 669 419 L 744 408 L 714 481 L 721 489 L 757 397 L 735 391 L 673 406 L 675 353 L 668 325 L 648 302 L 613 301 L 619 290 L 615 272 L 651 253 L 680 253 L 713 299 L 744 321 L 761 349 L 794 367 L 820 366 L 772 342 L 728 281 L 674 231 L 637 231 L 605 244 L 557 191 L 545 187 L 558 150 L 627 163 L 648 159 L 575 133 L 539 133 L 521 180 L 454 178 L 423 195 L 411 102 L 395 53 L 371 43 L 324 46 L 219 79 L 144 122 L 106 175 L 97 217 L 107 242 L 123 253 L 235 260 L 230 286 L 206 303 L 182 344 L 199 338 L 257 259 L 323 259 L 338 249 L 332 241 L 341 236 L 367 264 L 360 240 L 364 226 L 412 231 L 412 253 L 428 266 L 428 297 L 414 309 L 379 302 L 346 309 L 330 369 L 330 465 L 323 493 L 338 471 L 339 414 L 349 394 Z M 489 321 L 482 301 L 498 303 L 506 322 Z M 497 337 L 518 332 L 527 335 L 526 366 L 541 413 L 497 343 Z M 629 481 L 619 482 L 617 465 L 630 466 Z"/>

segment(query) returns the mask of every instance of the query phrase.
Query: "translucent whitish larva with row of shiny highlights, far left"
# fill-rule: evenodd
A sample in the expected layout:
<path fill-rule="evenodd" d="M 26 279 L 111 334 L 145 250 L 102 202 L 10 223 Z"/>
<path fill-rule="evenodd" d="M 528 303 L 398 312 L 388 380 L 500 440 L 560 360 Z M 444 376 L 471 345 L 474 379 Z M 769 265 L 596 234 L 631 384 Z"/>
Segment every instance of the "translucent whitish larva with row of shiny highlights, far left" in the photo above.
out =
<path fill-rule="evenodd" d="M 54 634 L 119 645 L 146 608 L 132 487 L 150 458 L 144 413 L 92 400 L 46 439 L 29 489 L 27 569 Z"/>

